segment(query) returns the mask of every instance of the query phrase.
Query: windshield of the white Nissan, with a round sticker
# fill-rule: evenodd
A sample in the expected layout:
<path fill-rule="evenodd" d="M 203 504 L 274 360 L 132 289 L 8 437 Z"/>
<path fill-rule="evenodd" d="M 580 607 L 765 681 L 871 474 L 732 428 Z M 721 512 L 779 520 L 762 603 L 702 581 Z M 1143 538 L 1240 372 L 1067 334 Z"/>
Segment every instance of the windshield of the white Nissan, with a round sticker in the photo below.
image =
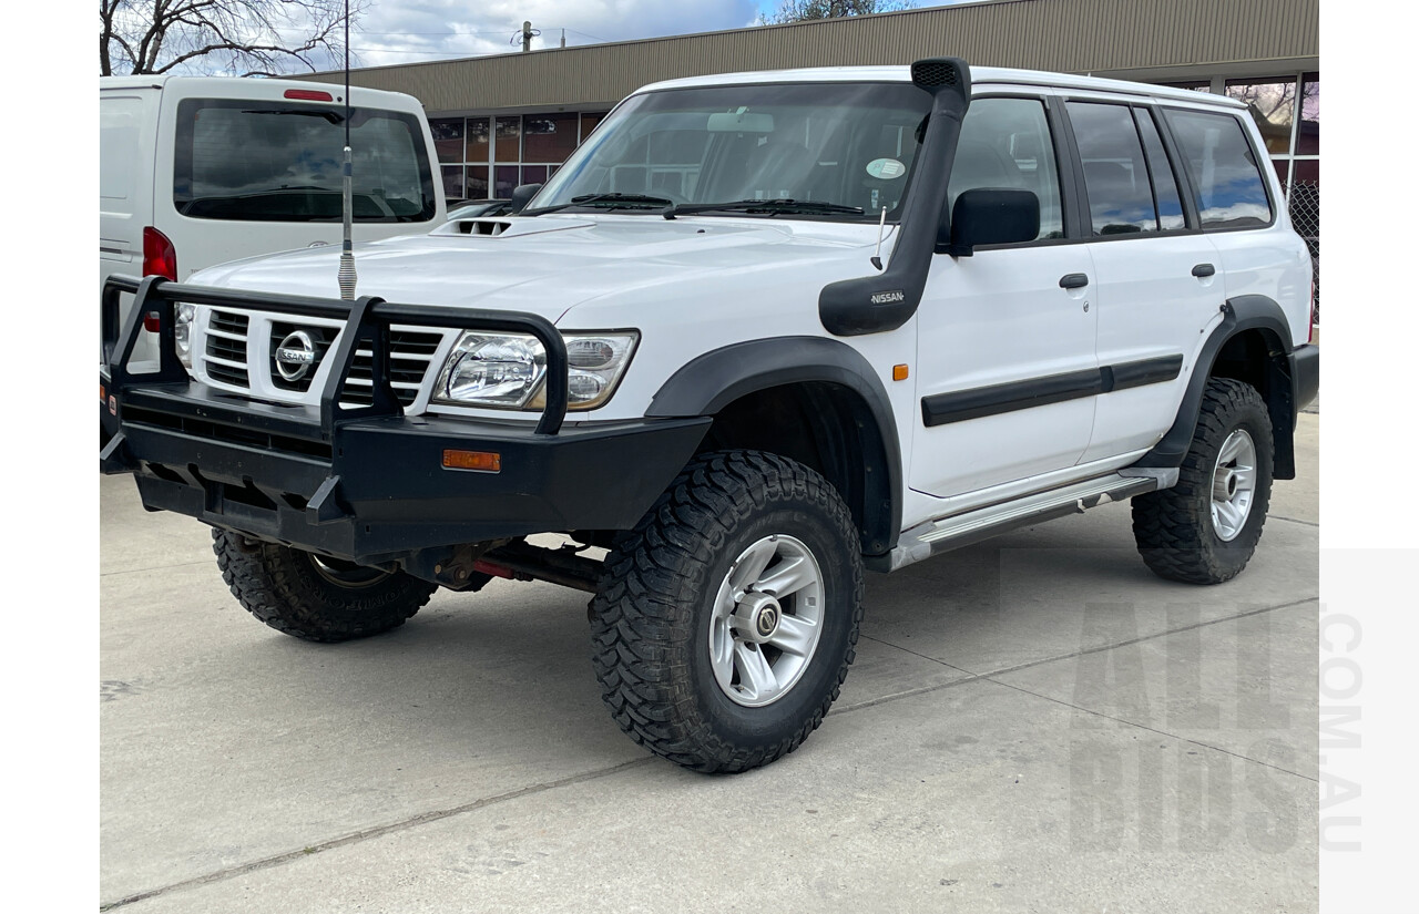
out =
<path fill-rule="evenodd" d="M 830 205 L 753 213 L 874 222 L 885 208 L 893 218 L 907 196 L 929 106 L 931 96 L 910 84 L 647 92 L 617 108 L 528 208 L 583 198 L 578 205 L 656 213 L 667 203 L 793 200 Z"/>

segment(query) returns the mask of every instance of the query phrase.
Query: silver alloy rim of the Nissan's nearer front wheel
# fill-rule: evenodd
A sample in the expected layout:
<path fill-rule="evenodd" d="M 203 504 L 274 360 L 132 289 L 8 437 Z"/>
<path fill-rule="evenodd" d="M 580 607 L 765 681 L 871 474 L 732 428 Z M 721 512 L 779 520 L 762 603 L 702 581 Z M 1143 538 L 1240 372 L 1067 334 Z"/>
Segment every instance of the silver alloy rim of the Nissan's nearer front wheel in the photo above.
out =
<path fill-rule="evenodd" d="M 744 550 L 710 614 L 710 663 L 736 704 L 762 707 L 802 679 L 823 625 L 823 572 L 800 540 L 775 534 Z"/>

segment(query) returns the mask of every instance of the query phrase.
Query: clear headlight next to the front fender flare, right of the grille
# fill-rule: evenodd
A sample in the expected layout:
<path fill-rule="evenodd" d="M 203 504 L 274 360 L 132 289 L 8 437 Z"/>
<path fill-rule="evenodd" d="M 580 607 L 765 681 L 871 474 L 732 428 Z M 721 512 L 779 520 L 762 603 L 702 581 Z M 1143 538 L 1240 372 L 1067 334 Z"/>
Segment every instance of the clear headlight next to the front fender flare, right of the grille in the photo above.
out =
<path fill-rule="evenodd" d="M 566 333 L 568 408 L 595 410 L 612 398 L 636 350 L 636 333 Z M 438 373 L 433 401 L 461 407 L 541 410 L 546 353 L 524 333 L 464 332 Z"/>

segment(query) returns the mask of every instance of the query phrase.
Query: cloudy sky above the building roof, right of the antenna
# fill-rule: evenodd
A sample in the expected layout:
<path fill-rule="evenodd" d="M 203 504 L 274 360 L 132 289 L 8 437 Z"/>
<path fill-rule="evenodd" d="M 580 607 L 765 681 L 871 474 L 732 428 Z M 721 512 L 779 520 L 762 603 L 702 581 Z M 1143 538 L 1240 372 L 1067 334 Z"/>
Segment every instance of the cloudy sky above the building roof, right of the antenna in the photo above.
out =
<path fill-rule="evenodd" d="M 532 40 L 536 50 L 556 47 L 563 28 L 569 47 L 683 35 L 742 28 L 778 6 L 778 0 L 372 0 L 350 45 L 363 67 L 412 64 L 515 51 L 522 20 L 542 33 Z"/>

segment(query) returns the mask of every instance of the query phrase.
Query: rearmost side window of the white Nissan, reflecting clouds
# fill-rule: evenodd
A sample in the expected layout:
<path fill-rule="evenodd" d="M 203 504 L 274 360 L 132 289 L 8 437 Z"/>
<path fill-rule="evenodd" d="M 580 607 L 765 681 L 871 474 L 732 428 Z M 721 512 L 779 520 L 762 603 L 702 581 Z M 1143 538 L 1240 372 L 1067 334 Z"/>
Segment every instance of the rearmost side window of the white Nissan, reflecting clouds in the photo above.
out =
<path fill-rule="evenodd" d="M 1166 118 L 1198 194 L 1202 228 L 1270 225 L 1271 201 L 1242 122 L 1232 115 L 1178 109 L 1169 109 Z"/>

